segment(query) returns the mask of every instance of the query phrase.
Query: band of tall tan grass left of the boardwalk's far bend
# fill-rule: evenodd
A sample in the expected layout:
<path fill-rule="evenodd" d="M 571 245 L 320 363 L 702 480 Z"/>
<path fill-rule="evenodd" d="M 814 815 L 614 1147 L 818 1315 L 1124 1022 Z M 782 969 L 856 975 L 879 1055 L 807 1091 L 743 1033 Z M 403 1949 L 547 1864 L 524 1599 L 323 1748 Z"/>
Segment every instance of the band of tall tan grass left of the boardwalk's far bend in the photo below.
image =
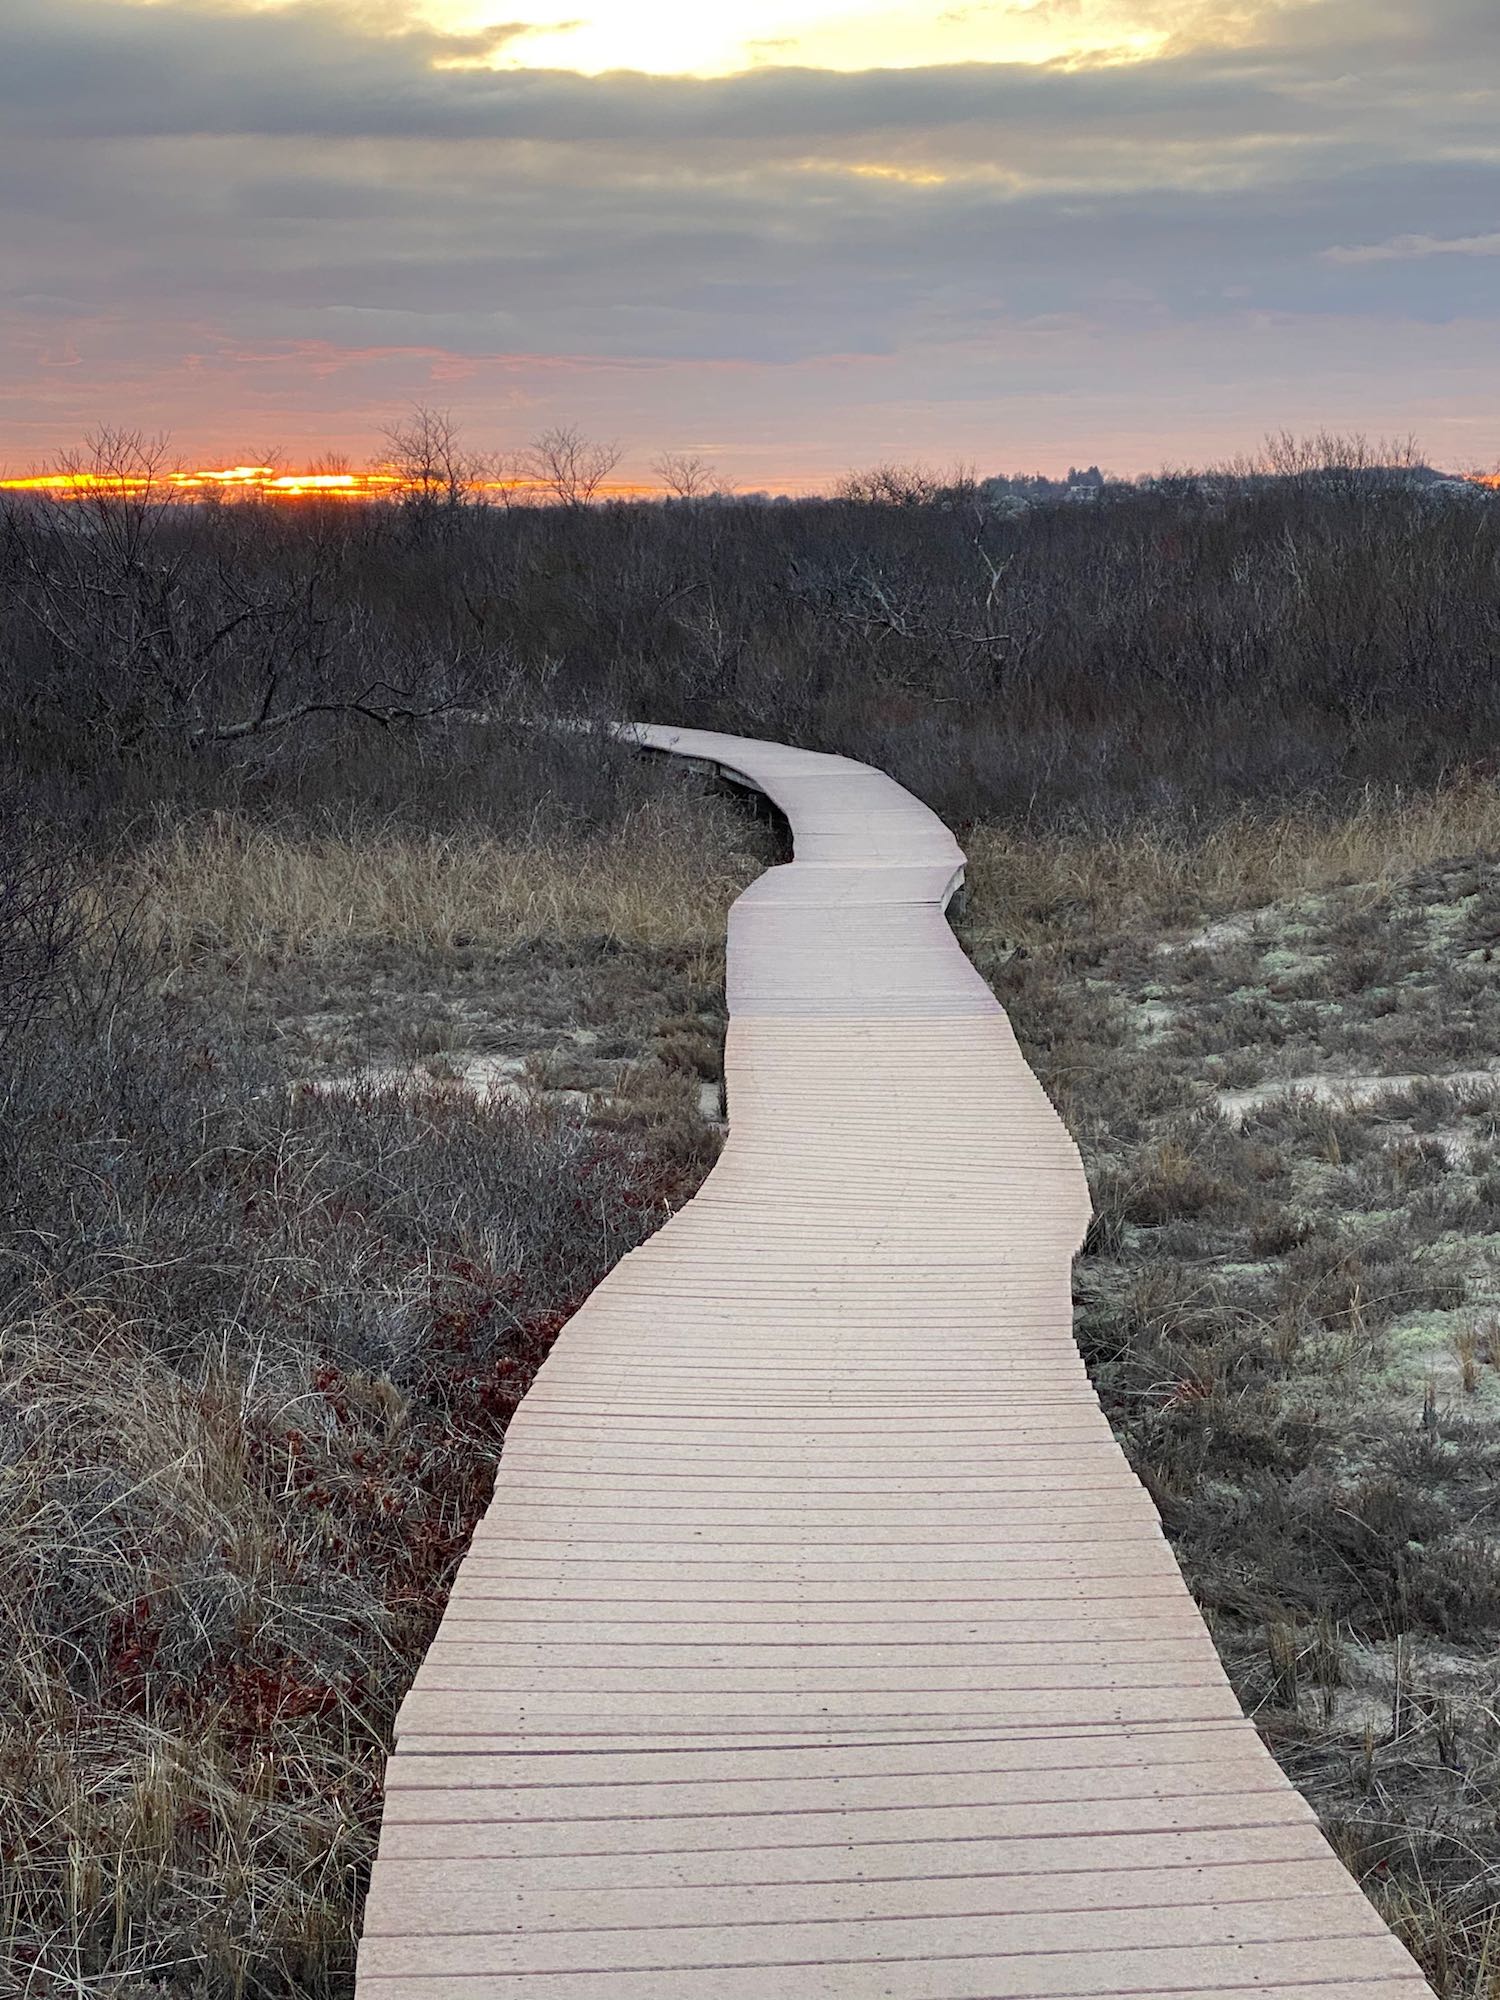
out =
<path fill-rule="evenodd" d="M 282 832 L 218 814 L 170 826 L 102 884 L 176 964 L 382 944 L 516 950 L 606 940 L 718 950 L 724 908 L 764 868 L 756 830 L 714 798 L 648 802 L 606 834 Z"/>

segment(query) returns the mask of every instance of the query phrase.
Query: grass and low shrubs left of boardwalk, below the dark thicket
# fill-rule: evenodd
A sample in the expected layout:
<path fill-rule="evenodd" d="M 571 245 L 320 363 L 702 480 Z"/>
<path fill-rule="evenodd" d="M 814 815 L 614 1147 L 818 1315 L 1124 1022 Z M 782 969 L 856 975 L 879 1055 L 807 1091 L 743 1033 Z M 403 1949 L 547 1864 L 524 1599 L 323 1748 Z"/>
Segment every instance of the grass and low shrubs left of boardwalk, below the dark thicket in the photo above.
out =
<path fill-rule="evenodd" d="M 712 1160 L 756 846 L 684 794 L 572 844 L 216 818 L 82 894 L 6 852 L 0 1994 L 348 1994 L 392 1716 L 508 1416 Z M 170 978 L 116 950 L 124 894 Z M 420 1002 L 586 1102 L 298 1086 L 288 1010 L 362 1032 L 366 986 L 376 1046 Z"/>

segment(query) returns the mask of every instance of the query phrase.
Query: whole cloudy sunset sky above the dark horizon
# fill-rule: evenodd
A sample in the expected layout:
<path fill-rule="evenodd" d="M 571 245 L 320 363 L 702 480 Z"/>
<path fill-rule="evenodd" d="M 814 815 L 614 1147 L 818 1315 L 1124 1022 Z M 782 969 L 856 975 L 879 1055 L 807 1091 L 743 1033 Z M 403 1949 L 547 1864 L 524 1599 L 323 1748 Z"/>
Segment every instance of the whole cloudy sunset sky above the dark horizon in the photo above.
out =
<path fill-rule="evenodd" d="M 0 468 L 1500 460 L 1500 0 L 4 0 Z"/>

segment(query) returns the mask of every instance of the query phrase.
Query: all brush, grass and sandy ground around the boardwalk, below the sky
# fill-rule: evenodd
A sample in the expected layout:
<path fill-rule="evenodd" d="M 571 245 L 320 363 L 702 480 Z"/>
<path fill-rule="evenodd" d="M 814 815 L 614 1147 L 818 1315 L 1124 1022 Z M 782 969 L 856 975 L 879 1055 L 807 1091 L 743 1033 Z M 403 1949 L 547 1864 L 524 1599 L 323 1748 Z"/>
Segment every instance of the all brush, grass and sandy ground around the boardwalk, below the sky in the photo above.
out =
<path fill-rule="evenodd" d="M 0 1986 L 348 1992 L 506 1416 L 716 1148 L 774 834 L 552 726 L 640 714 L 960 828 L 1106 1406 L 1272 1746 L 1490 2000 L 1500 504 L 880 492 L 0 520 Z"/>

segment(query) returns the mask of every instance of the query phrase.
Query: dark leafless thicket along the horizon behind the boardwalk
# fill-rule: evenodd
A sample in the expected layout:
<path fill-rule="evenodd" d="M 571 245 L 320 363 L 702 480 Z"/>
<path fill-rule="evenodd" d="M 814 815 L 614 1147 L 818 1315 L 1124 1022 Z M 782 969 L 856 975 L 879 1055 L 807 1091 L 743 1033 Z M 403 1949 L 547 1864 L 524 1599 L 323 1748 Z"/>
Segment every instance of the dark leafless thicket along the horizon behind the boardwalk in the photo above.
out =
<path fill-rule="evenodd" d="M 1124 824 L 1426 786 L 1500 748 L 1482 490 L 1308 452 L 1090 494 L 18 500 L 12 788 L 90 824 L 174 798 L 588 814 L 526 726 L 650 716 L 868 758 L 960 822 Z M 472 782 L 424 786 L 434 730 L 458 754 L 472 716 Z"/>

